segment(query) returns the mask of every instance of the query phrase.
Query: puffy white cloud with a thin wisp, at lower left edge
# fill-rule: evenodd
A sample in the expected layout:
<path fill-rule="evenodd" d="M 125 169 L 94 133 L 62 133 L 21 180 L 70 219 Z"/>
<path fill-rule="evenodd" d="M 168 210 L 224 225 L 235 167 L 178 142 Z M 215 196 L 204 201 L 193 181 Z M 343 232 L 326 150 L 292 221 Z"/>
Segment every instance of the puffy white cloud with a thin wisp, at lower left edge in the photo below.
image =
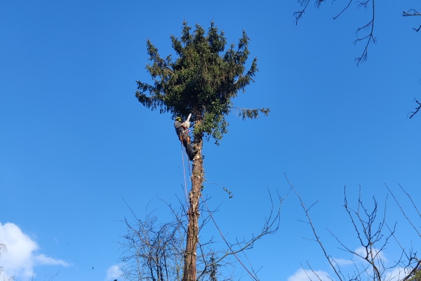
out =
<path fill-rule="evenodd" d="M 0 241 L 6 245 L 7 251 L 1 256 L 4 268 L 0 277 L 17 276 L 28 279 L 34 275 L 34 266 L 70 266 L 62 260 L 56 260 L 44 254 L 37 254 L 39 245 L 14 223 L 0 223 Z"/>

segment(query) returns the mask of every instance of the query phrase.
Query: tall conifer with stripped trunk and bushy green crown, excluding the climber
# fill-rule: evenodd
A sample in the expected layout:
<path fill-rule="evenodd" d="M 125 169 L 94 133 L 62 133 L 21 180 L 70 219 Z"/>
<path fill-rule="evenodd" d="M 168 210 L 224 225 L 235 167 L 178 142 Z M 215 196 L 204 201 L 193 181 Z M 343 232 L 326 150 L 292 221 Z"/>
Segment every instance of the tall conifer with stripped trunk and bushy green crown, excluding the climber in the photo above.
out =
<path fill-rule="evenodd" d="M 186 118 L 192 113 L 194 122 L 193 148 L 197 151 L 192 165 L 192 190 L 189 192 L 189 225 L 185 250 L 183 280 L 196 280 L 196 249 L 199 240 L 199 199 L 203 188 L 203 139 L 213 138 L 219 144 L 227 133 L 226 117 L 232 110 L 246 118 L 257 118 L 260 113 L 267 115 L 268 108 L 247 109 L 234 107 L 233 99 L 253 81 L 257 68 L 257 58 L 246 70 L 249 38 L 243 31 L 237 46 L 231 44 L 225 53 L 227 39 L 224 32 L 210 22 L 208 34 L 200 25 L 192 27 L 182 23 L 182 36 L 171 36 L 171 42 L 178 56 L 161 58 L 158 49 L 147 40 L 147 53 L 151 64 L 147 72 L 154 84 L 137 81 L 136 98 L 145 107 L 159 109 L 160 113 L 170 112 L 172 117 Z"/>

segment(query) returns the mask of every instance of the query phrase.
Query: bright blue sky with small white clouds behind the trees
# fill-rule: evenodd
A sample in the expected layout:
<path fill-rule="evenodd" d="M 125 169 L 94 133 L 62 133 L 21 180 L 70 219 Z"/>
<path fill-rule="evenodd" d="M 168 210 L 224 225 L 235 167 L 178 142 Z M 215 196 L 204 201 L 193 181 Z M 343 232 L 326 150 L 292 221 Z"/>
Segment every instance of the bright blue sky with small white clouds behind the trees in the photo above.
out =
<path fill-rule="evenodd" d="M 299 4 L 283 2 L 1 1 L 0 240 L 9 273 L 113 280 L 107 270 L 119 265 L 120 220 L 131 216 L 123 198 L 140 217 L 148 204 L 169 217 L 159 198 L 176 204 L 183 196 L 180 143 L 170 115 L 135 99 L 135 80 L 149 79 L 146 39 L 161 55 L 174 53 L 170 35 L 180 35 L 183 20 L 206 29 L 213 20 L 229 43 L 246 30 L 260 72 L 234 103 L 271 109 L 247 122 L 231 115 L 220 146 L 204 145 L 207 182 L 234 194 L 210 184 L 203 191 L 212 207 L 222 203 L 215 219 L 227 237 L 260 230 L 267 189 L 289 190 L 283 173 L 307 205 L 318 201 L 312 219 L 341 259 L 350 256 L 325 228 L 359 247 L 342 207 L 345 185 L 351 204 L 361 185 L 366 204 L 375 195 L 384 206 L 385 183 L 400 200 L 399 184 L 419 202 L 421 115 L 408 112 L 420 99 L 421 37 L 412 30 L 420 21 L 401 11 L 420 7 L 376 2 L 377 44 L 357 67 L 364 43 L 353 44 L 355 30 L 369 11 L 351 6 L 333 20 L 341 1 L 310 4 L 295 25 Z M 402 242 L 419 245 L 390 197 L 387 204 Z M 333 276 L 319 247 L 303 239 L 311 237 L 303 219 L 290 193 L 278 233 L 248 253 L 263 266 L 261 280 L 305 280 L 299 270 L 307 261 Z M 389 260 L 396 253 L 385 251 Z"/>

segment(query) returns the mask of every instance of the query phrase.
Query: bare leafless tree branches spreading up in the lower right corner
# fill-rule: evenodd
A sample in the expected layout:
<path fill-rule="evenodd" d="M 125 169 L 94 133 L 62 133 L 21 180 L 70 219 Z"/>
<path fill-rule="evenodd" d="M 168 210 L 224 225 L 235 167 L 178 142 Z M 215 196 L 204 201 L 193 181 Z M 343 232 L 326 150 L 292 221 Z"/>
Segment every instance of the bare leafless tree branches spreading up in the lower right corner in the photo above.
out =
<path fill-rule="evenodd" d="M 288 178 L 287 178 L 288 181 Z M 323 255 L 328 260 L 330 267 L 335 272 L 335 276 L 338 280 L 341 281 L 362 281 L 362 280 L 373 280 L 373 281 L 389 281 L 389 280 L 402 280 L 402 281 L 417 281 L 421 280 L 421 260 L 417 258 L 416 251 L 413 251 L 412 248 L 406 249 L 401 246 L 398 238 L 396 237 L 396 223 L 393 226 L 389 226 L 386 222 L 386 211 L 387 207 L 385 204 L 384 209 L 382 209 L 381 214 L 379 204 L 377 200 L 373 197 L 373 207 L 371 209 L 366 208 L 366 205 L 363 204 L 361 200 L 361 188 L 359 189 L 359 197 L 357 200 L 356 207 L 350 207 L 347 201 L 346 188 L 344 189 L 345 193 L 345 204 L 344 208 L 349 216 L 349 221 L 354 229 L 354 234 L 358 239 L 358 247 L 349 247 L 337 237 L 332 231 L 328 232 L 334 237 L 334 239 L 340 245 L 339 249 L 345 251 L 349 254 L 352 254 L 355 259 L 352 260 L 354 266 L 353 270 L 343 270 L 339 263 L 328 254 L 328 250 L 323 245 L 323 242 L 320 239 L 320 236 L 316 232 L 316 228 L 312 222 L 312 219 L 309 215 L 309 210 L 314 207 L 312 204 L 309 208 L 305 207 L 305 203 L 298 195 L 297 190 L 293 188 L 293 185 L 288 181 L 290 187 L 293 189 L 295 194 L 300 200 L 302 209 L 305 212 L 305 216 L 309 226 L 312 228 L 312 233 L 314 235 L 314 240 L 316 241 L 323 251 Z M 389 190 L 390 192 L 390 190 Z M 392 192 L 390 192 L 392 194 Z M 393 194 L 392 194 L 393 195 Z M 396 197 L 394 197 L 396 200 Z M 387 202 L 387 200 L 386 200 Z M 396 200 L 396 203 L 399 202 Z M 399 205 L 400 207 L 400 205 Z M 415 204 L 414 204 L 415 207 Z M 416 208 L 416 207 L 415 207 Z M 402 213 L 403 209 L 401 208 Z M 420 214 L 420 213 L 418 213 Z M 406 216 L 408 221 L 412 224 L 412 221 Z M 415 228 L 415 226 L 414 226 Z M 415 228 L 416 230 L 416 228 Z M 418 233 L 420 235 L 420 233 Z M 420 236 L 421 237 L 421 236 Z M 385 260 L 384 251 L 387 244 L 395 242 L 401 249 L 401 254 L 397 257 L 394 257 L 394 263 L 389 264 Z M 307 262 L 309 266 L 309 263 Z M 309 266 L 309 270 L 316 274 L 316 272 Z M 393 271 L 394 270 L 394 271 Z M 392 275 L 392 273 L 394 275 Z M 317 275 L 316 275 L 317 276 Z M 318 280 L 321 280 L 318 277 Z M 312 280 L 309 277 L 309 280 Z M 330 280 L 333 280 L 330 278 Z"/>

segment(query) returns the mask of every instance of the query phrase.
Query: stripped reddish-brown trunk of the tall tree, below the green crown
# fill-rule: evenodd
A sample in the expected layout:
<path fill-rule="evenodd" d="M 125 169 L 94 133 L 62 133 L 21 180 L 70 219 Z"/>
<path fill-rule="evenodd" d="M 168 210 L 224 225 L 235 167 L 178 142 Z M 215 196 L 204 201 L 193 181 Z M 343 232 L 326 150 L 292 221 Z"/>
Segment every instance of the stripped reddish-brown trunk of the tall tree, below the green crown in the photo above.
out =
<path fill-rule="evenodd" d="M 196 122 L 197 124 L 198 122 Z M 197 150 L 193 159 L 192 190 L 189 192 L 189 225 L 187 226 L 187 242 L 185 251 L 185 267 L 182 281 L 196 281 L 197 243 L 199 242 L 199 200 L 203 182 L 203 159 L 201 149 L 202 138 L 195 136 L 194 148 Z"/>

